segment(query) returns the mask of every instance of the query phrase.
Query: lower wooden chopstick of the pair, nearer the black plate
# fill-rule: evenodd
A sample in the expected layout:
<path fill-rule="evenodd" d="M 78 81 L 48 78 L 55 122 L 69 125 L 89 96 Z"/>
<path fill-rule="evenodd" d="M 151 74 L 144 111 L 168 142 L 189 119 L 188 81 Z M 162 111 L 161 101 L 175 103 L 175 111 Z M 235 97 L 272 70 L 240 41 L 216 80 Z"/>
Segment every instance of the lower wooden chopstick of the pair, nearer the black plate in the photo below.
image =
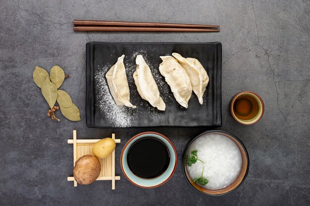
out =
<path fill-rule="evenodd" d="M 126 32 L 219 32 L 219 29 L 169 28 L 169 27 L 109 27 L 109 26 L 74 26 L 73 31 L 126 31 Z"/>

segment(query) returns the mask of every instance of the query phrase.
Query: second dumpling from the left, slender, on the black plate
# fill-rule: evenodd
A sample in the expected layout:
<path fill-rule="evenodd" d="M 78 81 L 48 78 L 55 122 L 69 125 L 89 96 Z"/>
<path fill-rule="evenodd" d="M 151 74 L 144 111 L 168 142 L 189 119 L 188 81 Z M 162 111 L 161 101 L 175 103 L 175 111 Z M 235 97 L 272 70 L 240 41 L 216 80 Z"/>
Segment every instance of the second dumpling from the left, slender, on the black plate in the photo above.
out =
<path fill-rule="evenodd" d="M 158 110 L 164 111 L 166 105 L 159 96 L 159 90 L 151 73 L 151 69 L 142 55 L 137 56 L 136 64 L 137 68 L 133 77 L 140 96 L 150 102 L 153 107 L 157 107 Z"/>

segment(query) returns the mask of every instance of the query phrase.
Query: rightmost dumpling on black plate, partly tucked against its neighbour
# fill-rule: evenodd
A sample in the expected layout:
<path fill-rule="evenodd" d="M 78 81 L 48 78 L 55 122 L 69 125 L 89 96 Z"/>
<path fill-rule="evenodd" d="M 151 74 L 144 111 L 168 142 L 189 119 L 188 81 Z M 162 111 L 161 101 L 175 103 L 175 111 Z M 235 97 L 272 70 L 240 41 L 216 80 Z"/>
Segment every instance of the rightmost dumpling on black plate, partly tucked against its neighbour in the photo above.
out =
<path fill-rule="evenodd" d="M 203 65 L 195 58 L 184 58 L 178 53 L 172 53 L 181 66 L 186 70 L 191 79 L 193 91 L 198 97 L 199 103 L 203 104 L 203 95 L 206 91 L 209 77 Z"/>

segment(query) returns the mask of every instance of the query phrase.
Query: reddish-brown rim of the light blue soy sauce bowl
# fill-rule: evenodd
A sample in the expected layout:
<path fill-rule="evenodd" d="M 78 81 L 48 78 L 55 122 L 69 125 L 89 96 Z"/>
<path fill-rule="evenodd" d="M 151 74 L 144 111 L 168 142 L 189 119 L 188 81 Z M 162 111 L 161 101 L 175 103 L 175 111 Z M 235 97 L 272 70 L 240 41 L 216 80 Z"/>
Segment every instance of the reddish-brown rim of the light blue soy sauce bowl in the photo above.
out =
<path fill-rule="evenodd" d="M 132 142 L 134 139 L 136 139 L 137 137 L 140 137 L 141 135 L 144 135 L 144 134 L 155 134 L 155 135 L 161 136 L 162 138 L 166 139 L 166 140 L 169 142 L 169 144 L 171 145 L 171 147 L 172 147 L 172 149 L 173 149 L 173 151 L 174 151 L 174 154 L 175 154 L 175 162 L 174 162 L 174 167 L 173 167 L 173 170 L 172 170 L 171 174 L 170 174 L 163 182 L 161 182 L 161 183 L 159 183 L 159 184 L 157 184 L 157 185 L 153 185 L 153 186 L 142 186 L 142 185 L 139 185 L 139 184 L 135 183 L 134 181 L 132 181 L 132 180 L 127 176 L 127 174 L 125 173 L 124 168 L 123 168 L 123 162 L 122 162 L 122 160 L 123 160 L 123 155 L 124 155 L 125 149 L 128 147 L 128 145 L 129 145 L 130 142 Z M 172 155 L 172 154 L 170 154 L 170 155 Z M 178 163 L 177 152 L 176 152 L 176 149 L 175 149 L 173 143 L 170 141 L 170 139 L 168 139 L 168 138 L 167 138 L 166 136 L 164 136 L 163 134 L 160 134 L 160 133 L 154 132 L 154 131 L 141 132 L 141 133 L 136 134 L 135 136 L 131 137 L 131 138 L 127 141 L 127 143 L 125 144 L 125 146 L 123 147 L 122 153 L 121 153 L 121 156 L 120 156 L 120 167 L 121 167 L 122 172 L 123 172 L 123 174 L 125 175 L 125 177 L 126 177 L 132 184 L 134 184 L 134 185 L 136 185 L 136 186 L 138 186 L 138 187 L 142 187 L 142 188 L 155 188 L 155 187 L 159 187 L 159 186 L 163 185 L 164 183 L 166 183 L 166 182 L 172 177 L 172 175 L 174 174 L 174 172 L 175 172 L 175 170 L 176 170 L 176 167 L 177 167 L 177 163 Z"/>

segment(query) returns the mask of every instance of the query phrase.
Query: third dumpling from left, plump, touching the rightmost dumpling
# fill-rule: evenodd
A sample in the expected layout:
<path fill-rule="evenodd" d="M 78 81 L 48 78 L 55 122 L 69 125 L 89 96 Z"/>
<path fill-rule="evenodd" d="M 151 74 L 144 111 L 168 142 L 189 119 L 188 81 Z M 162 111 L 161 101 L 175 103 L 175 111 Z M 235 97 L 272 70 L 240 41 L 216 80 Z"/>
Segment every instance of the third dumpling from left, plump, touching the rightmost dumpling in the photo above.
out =
<path fill-rule="evenodd" d="M 192 95 L 192 84 L 185 69 L 173 56 L 160 56 L 159 72 L 165 77 L 176 101 L 183 107 L 188 107 L 188 100 Z"/>

